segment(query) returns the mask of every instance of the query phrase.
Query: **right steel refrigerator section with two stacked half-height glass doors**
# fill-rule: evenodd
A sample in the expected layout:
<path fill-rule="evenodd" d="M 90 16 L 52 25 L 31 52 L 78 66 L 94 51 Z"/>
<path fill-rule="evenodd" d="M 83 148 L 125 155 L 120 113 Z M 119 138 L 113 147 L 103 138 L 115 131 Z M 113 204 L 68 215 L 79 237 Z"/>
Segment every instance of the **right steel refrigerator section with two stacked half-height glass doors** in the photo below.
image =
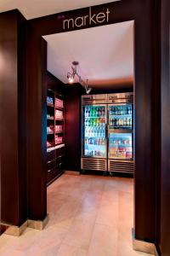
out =
<path fill-rule="evenodd" d="M 133 173 L 133 93 L 108 95 L 108 171 Z"/>

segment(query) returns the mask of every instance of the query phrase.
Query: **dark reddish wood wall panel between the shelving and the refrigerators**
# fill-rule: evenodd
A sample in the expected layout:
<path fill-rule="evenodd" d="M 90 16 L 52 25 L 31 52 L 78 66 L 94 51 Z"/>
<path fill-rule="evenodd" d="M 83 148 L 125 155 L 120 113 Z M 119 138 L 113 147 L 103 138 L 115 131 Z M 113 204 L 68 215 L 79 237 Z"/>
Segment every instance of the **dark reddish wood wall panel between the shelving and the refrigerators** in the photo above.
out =
<path fill-rule="evenodd" d="M 81 168 L 81 95 L 82 87 L 67 85 L 65 90 L 65 170 Z"/>

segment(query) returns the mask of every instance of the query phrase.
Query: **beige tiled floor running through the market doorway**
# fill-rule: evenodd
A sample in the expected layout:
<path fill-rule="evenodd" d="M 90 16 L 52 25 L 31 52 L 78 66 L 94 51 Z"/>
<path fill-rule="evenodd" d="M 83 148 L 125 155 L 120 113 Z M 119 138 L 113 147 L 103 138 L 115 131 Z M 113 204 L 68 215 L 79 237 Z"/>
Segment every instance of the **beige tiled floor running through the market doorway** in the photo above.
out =
<path fill-rule="evenodd" d="M 48 187 L 45 230 L 2 235 L 4 256 L 135 256 L 133 179 L 63 175 Z"/>

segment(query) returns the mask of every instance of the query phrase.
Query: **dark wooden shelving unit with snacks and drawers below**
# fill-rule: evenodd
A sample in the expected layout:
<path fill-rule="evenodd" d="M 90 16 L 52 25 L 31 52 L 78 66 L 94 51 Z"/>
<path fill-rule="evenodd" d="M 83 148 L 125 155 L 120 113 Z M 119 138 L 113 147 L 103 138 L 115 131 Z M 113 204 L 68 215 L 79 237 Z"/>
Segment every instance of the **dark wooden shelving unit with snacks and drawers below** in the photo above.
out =
<path fill-rule="evenodd" d="M 57 106 L 59 103 L 62 107 Z M 48 90 L 47 99 L 47 154 L 47 183 L 50 184 L 63 173 L 65 162 L 64 98 L 53 90 Z"/>

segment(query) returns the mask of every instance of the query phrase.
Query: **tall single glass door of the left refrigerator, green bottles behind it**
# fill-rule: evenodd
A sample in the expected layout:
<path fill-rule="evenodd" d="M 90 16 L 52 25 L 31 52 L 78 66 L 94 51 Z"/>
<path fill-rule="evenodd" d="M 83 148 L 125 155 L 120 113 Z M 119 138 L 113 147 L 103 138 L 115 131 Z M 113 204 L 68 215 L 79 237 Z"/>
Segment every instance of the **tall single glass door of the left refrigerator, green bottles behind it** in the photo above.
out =
<path fill-rule="evenodd" d="M 106 105 L 82 107 L 82 156 L 106 158 L 106 121 Z"/>

